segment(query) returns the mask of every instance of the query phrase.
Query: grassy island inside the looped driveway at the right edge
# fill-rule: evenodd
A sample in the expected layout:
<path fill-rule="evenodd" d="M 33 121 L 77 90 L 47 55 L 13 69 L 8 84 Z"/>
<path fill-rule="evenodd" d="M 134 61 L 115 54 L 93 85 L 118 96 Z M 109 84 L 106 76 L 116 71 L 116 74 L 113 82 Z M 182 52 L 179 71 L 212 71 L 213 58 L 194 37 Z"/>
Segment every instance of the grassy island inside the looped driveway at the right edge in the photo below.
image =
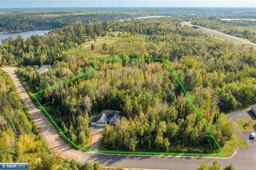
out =
<path fill-rule="evenodd" d="M 253 120 L 252 122 L 252 125 L 250 126 L 244 126 L 245 123 L 247 123 L 248 121 L 251 121 Z M 256 130 L 256 118 L 251 118 L 251 117 L 243 117 L 243 118 L 239 118 L 239 119 L 236 119 L 234 121 L 234 125 L 241 131 L 251 131 L 251 130 Z"/>

